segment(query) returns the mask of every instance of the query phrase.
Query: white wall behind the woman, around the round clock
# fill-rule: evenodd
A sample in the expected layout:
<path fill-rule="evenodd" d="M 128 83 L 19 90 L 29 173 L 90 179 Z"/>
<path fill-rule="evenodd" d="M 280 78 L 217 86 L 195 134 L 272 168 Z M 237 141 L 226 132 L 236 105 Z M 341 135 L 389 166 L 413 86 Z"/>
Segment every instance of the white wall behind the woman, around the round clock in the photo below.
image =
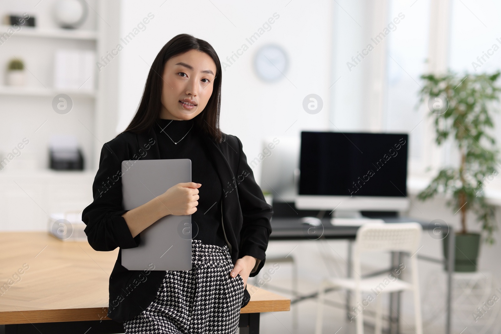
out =
<path fill-rule="evenodd" d="M 194 1 L 189 8 L 181 2 L 162 3 L 163 0 L 146 4 L 122 2 L 121 36 L 128 34 L 148 13 L 155 17 L 119 54 L 117 131 L 125 129 L 132 119 L 149 66 L 158 51 L 181 33 L 209 42 L 221 62 L 243 43 L 249 46 L 222 73 L 220 122 L 223 132 L 241 139 L 249 160 L 262 150 L 261 141 L 265 136 L 299 136 L 305 129 L 328 129 L 332 84 L 331 2 Z M 245 38 L 257 32 L 274 13 L 280 18 L 271 25 L 271 30 L 249 45 Z M 262 82 L 254 73 L 254 56 L 260 47 L 269 43 L 282 46 L 289 56 L 286 78 L 277 83 Z M 321 96 L 324 102 L 323 110 L 315 115 L 306 113 L 302 107 L 304 97 L 311 93 Z M 259 168 L 254 173 L 259 180 Z"/>

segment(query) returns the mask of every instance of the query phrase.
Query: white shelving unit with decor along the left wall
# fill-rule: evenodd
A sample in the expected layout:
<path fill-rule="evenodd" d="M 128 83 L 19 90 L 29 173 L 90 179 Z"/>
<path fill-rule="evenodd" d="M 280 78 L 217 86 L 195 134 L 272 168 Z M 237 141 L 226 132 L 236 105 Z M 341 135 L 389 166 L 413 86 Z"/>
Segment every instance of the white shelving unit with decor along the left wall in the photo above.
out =
<path fill-rule="evenodd" d="M 0 170 L 0 210 L 3 212 L 0 231 L 46 230 L 50 214 L 85 208 L 92 201 L 100 149 L 112 138 L 116 127 L 112 107 L 116 105 L 113 87 L 118 79 L 113 67 L 118 66 L 118 62 L 106 71 L 99 72 L 96 67 L 92 91 L 55 89 L 52 83 L 55 50 L 93 50 L 97 60 L 116 45 L 119 2 L 88 0 L 86 23 L 81 29 L 67 30 L 57 28 L 53 22 L 55 0 L 42 3 L 33 0 L 32 4 L 30 1 L 6 3 L 0 9 L 0 16 L 29 12 L 35 16 L 38 26 L 22 27 L 0 45 L 0 78 L 5 79 L 8 61 L 18 57 L 25 63 L 28 79 L 23 87 L 6 86 L 5 80 L 0 82 L 0 158 L 15 150 L 23 138 L 30 139 L 19 157 Z M 9 28 L 0 25 L 0 35 Z M 99 91 L 99 87 L 106 87 L 106 92 Z M 52 109 L 52 99 L 62 93 L 74 102 L 72 111 L 66 115 Z M 83 171 L 48 168 L 49 138 L 57 133 L 77 136 L 84 153 Z"/>

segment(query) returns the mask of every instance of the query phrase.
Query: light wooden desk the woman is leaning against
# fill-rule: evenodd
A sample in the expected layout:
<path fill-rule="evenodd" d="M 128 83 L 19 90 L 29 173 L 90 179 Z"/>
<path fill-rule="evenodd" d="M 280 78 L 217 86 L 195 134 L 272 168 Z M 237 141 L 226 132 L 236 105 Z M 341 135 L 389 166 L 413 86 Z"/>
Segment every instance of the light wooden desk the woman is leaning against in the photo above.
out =
<path fill-rule="evenodd" d="M 118 248 L 98 252 L 87 242 L 61 241 L 47 232 L 0 232 L 0 324 L 6 334 L 123 333 L 122 323 L 106 316 L 117 254 Z M 290 310 L 286 297 L 247 290 L 251 297 L 239 326 L 249 333 L 259 333 L 261 312 Z"/>

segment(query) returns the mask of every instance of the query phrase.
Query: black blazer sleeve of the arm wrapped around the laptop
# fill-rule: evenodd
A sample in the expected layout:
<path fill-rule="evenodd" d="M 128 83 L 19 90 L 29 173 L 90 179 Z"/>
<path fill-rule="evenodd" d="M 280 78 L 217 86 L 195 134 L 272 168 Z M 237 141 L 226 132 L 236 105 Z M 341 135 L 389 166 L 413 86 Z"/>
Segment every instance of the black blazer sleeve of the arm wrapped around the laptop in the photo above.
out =
<path fill-rule="evenodd" d="M 95 250 L 110 251 L 117 247 L 125 249 L 139 245 L 140 235 L 133 238 L 122 217 L 128 210 L 122 206 L 121 171 L 121 159 L 109 143 L 105 143 L 92 185 L 94 201 L 82 211 L 82 221 L 87 225 L 84 231 Z"/>

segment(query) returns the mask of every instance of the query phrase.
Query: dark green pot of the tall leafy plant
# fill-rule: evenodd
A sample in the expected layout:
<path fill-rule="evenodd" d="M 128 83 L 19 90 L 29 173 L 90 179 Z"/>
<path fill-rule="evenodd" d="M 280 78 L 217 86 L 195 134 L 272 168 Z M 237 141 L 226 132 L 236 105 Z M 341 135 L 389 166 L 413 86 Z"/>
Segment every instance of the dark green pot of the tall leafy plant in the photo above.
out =
<path fill-rule="evenodd" d="M 443 256 L 447 259 L 449 238 L 443 238 Z M 472 272 L 476 271 L 476 259 L 480 248 L 480 234 L 478 233 L 457 233 L 454 252 L 454 271 Z M 444 265 L 447 270 L 447 263 Z"/>

